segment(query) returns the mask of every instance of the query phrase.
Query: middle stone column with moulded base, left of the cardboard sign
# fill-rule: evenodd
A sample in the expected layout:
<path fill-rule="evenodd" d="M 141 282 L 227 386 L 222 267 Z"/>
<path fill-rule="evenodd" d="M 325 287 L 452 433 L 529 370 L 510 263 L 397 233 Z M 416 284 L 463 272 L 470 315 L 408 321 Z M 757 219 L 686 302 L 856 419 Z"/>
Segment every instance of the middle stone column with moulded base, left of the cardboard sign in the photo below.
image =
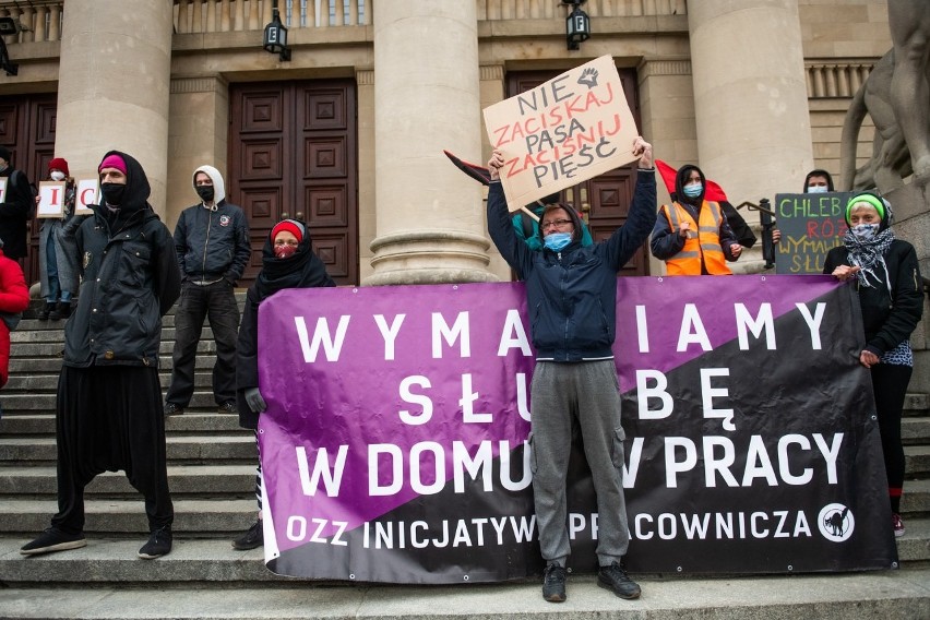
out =
<path fill-rule="evenodd" d="M 481 188 L 442 153 L 481 152 L 474 2 L 374 3 L 373 273 L 366 285 L 486 282 Z"/>

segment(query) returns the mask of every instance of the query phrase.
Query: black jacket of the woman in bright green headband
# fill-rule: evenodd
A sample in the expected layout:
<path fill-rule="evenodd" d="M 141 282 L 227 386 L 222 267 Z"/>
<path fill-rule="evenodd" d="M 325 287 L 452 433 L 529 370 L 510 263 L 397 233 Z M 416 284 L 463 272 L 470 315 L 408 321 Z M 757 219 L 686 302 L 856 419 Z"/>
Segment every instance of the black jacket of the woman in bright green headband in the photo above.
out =
<path fill-rule="evenodd" d="M 872 286 L 861 286 L 856 281 L 866 329 L 866 350 L 879 357 L 909 338 L 923 313 L 923 282 L 914 246 L 895 239 L 884 259 L 893 290 L 890 291 L 883 281 L 881 269 L 878 270 L 882 273 L 880 283 L 870 278 Z M 845 246 L 837 246 L 826 254 L 823 273 L 832 273 L 838 265 L 851 266 Z"/>

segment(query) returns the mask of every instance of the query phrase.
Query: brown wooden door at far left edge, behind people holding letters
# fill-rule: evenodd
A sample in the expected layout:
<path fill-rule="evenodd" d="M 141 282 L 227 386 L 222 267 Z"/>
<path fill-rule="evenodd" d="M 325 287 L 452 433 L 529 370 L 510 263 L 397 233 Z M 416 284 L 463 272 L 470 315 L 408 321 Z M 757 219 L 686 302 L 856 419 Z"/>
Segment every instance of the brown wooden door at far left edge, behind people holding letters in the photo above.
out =
<path fill-rule="evenodd" d="M 58 97 L 55 93 L 39 95 L 3 95 L 0 99 L 0 144 L 13 152 L 13 167 L 26 174 L 29 181 L 44 180 L 48 163 L 56 157 L 55 126 Z M 58 157 L 68 158 L 67 153 Z M 40 222 L 29 223 L 29 247 L 23 260 L 26 284 L 39 281 L 38 229 Z"/>

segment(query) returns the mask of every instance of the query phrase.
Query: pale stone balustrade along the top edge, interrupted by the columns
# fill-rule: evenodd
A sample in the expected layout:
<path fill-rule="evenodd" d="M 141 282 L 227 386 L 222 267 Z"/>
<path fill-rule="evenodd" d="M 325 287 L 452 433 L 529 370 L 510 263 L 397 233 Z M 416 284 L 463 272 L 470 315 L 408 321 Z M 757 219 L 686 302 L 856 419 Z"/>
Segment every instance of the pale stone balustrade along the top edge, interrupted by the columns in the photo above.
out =
<path fill-rule="evenodd" d="M 409 0 L 418 2 L 424 0 Z M 440 1 L 440 0 L 437 0 Z M 461 2 L 463 0 L 441 0 Z M 325 28 L 371 24 L 374 0 L 278 0 L 288 28 Z M 174 0 L 176 34 L 261 31 L 272 19 L 273 0 Z M 552 20 L 568 16 L 557 0 L 475 0 L 478 20 Z M 685 0 L 588 0 L 592 17 L 683 15 Z M 0 0 L 0 16 L 17 19 L 24 31 L 8 43 L 61 39 L 64 0 Z"/>

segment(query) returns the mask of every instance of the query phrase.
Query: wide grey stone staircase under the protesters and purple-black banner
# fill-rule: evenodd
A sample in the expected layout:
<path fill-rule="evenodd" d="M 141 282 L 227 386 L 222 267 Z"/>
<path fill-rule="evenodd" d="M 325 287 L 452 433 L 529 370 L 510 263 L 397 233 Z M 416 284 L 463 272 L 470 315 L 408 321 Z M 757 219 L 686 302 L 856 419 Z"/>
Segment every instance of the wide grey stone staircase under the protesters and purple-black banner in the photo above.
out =
<path fill-rule="evenodd" d="M 243 295 L 239 295 L 240 302 Z M 215 410 L 214 343 L 204 327 L 196 392 L 167 419 L 175 548 L 139 560 L 147 523 L 123 474 L 98 476 L 86 491 L 88 545 L 24 558 L 19 548 L 57 511 L 55 392 L 63 321 L 24 319 L 12 334 L 11 379 L 0 392 L 0 619 L 2 618 L 930 618 L 930 398 L 908 397 L 902 569 L 859 574 L 761 577 L 637 575 L 644 596 L 621 601 L 573 575 L 569 601 L 551 605 L 537 580 L 467 586 L 378 586 L 278 577 L 261 549 L 229 541 L 255 517 L 255 448 L 238 418 Z M 174 315 L 166 317 L 162 384 L 170 378 Z M 163 591 L 168 596 L 153 596 Z"/>

